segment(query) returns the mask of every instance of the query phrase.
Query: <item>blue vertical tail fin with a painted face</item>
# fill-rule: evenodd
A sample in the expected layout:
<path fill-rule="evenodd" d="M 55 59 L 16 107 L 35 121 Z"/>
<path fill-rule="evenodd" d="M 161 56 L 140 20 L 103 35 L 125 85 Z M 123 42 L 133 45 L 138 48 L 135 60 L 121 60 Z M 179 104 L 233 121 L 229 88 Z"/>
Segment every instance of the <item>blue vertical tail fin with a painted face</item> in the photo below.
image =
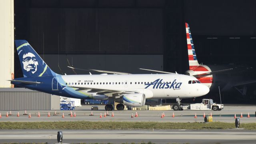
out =
<path fill-rule="evenodd" d="M 24 77 L 56 75 L 26 40 L 15 40 L 15 44 Z"/>

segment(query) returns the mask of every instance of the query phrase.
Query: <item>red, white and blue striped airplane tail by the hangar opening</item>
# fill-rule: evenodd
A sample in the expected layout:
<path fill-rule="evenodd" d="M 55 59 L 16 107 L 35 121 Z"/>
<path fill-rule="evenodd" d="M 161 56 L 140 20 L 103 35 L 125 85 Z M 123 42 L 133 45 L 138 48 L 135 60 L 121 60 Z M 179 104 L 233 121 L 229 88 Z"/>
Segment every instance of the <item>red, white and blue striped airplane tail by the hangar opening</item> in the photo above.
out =
<path fill-rule="evenodd" d="M 188 46 L 188 63 L 189 63 L 189 70 L 186 73 L 189 73 L 189 75 L 198 75 L 198 74 L 212 72 L 208 66 L 200 65 L 198 63 L 189 25 L 188 25 L 188 23 L 185 23 L 185 25 L 186 25 L 186 36 L 187 36 L 187 46 Z M 197 79 L 200 80 L 200 82 L 202 82 L 209 88 L 212 86 L 212 75 L 204 76 L 204 77 L 197 77 Z"/>

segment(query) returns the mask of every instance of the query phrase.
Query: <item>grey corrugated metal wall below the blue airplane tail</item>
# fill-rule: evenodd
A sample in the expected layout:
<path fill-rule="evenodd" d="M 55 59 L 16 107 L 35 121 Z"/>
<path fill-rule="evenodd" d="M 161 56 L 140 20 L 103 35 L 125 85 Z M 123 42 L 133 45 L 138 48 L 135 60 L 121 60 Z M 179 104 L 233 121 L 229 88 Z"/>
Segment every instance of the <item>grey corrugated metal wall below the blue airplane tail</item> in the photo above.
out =
<path fill-rule="evenodd" d="M 0 110 L 59 110 L 60 96 L 38 91 L 0 90 Z"/>

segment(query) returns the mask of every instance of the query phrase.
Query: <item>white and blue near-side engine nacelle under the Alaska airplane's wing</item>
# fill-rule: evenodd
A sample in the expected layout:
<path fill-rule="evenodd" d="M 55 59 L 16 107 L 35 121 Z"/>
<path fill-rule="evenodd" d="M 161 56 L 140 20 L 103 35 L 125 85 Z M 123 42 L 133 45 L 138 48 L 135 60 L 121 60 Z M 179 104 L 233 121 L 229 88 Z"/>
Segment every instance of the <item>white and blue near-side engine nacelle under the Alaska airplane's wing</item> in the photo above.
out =
<path fill-rule="evenodd" d="M 144 106 L 146 96 L 142 93 L 137 94 L 124 94 L 120 98 L 116 98 L 115 102 L 122 103 L 126 106 Z"/>

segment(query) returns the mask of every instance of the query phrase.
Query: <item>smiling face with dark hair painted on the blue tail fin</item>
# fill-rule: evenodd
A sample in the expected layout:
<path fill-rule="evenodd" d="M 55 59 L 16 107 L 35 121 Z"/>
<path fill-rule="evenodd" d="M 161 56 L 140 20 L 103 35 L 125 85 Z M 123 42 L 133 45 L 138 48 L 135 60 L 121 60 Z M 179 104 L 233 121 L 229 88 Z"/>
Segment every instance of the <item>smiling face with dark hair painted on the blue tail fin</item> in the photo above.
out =
<path fill-rule="evenodd" d="M 27 72 L 32 72 L 34 74 L 37 70 L 38 61 L 36 56 L 31 52 L 25 53 L 22 56 L 23 69 Z"/>

